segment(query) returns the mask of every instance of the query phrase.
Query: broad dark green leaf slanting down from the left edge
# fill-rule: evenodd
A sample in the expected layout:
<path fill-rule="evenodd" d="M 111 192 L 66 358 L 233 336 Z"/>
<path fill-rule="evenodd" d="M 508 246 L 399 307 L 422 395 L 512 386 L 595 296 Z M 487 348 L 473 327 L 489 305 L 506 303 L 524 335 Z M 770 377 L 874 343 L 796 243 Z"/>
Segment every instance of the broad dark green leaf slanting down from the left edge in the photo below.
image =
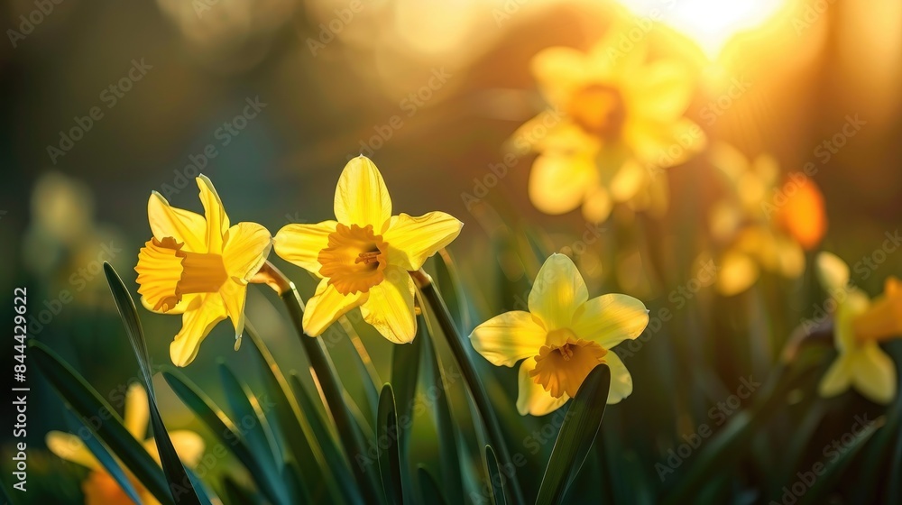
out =
<path fill-rule="evenodd" d="M 29 358 L 85 424 L 161 503 L 173 503 L 160 466 L 125 429 L 122 418 L 78 372 L 37 340 L 30 340 Z"/>

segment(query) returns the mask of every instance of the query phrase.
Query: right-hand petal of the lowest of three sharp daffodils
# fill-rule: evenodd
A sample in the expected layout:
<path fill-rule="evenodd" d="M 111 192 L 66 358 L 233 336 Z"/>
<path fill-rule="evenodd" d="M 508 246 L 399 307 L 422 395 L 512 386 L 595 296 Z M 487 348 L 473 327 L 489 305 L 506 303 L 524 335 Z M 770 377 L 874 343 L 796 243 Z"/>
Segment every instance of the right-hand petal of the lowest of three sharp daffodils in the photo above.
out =
<path fill-rule="evenodd" d="M 633 339 L 649 325 L 649 311 L 636 298 L 609 294 L 586 301 L 574 316 L 573 331 L 586 340 L 611 349 Z"/>

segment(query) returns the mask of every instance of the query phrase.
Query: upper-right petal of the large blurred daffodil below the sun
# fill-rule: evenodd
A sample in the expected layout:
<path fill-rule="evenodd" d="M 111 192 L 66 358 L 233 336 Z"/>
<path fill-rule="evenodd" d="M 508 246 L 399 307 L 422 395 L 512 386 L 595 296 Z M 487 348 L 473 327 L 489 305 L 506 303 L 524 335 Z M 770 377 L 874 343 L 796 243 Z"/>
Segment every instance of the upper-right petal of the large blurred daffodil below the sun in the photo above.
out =
<path fill-rule="evenodd" d="M 658 60 L 637 69 L 635 80 L 624 91 L 630 110 L 657 120 L 683 115 L 695 89 L 686 65 L 678 60 Z"/>

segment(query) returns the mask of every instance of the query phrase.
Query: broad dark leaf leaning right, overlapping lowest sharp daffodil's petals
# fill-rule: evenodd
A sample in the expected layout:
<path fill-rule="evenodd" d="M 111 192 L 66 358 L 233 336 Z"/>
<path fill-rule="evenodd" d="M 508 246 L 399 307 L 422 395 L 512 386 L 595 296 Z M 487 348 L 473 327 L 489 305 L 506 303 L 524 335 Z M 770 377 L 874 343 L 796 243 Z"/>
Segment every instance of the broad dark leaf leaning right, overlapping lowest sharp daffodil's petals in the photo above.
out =
<path fill-rule="evenodd" d="M 602 427 L 610 389 L 611 369 L 606 364 L 600 364 L 589 372 L 576 391 L 551 451 L 542 485 L 538 489 L 537 504 L 560 503 L 564 498 L 567 486 L 582 468 L 585 456 L 589 454 Z"/>

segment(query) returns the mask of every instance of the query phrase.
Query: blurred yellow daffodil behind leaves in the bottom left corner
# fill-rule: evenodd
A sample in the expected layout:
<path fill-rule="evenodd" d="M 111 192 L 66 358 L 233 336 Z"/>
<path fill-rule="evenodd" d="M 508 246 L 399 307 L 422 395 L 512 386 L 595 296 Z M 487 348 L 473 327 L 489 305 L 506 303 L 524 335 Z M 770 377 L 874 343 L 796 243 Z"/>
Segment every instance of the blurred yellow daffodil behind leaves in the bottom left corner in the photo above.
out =
<path fill-rule="evenodd" d="M 147 392 L 138 384 L 133 384 L 125 393 L 124 426 L 140 442 L 144 449 L 151 454 L 157 464 L 160 464 L 160 455 L 157 453 L 157 445 L 152 438 L 144 440 L 147 435 L 147 422 L 150 418 L 150 410 L 147 404 Z M 204 454 L 204 440 L 197 433 L 187 430 L 171 431 L 170 439 L 176 453 L 183 464 L 193 468 L 198 465 Z M 91 470 L 87 480 L 82 482 L 81 490 L 85 493 L 87 505 L 131 505 L 132 500 L 123 491 L 115 479 L 106 472 L 106 468 L 94 454 L 87 448 L 81 438 L 69 433 L 51 431 L 47 434 L 47 447 L 53 454 L 80 464 Z M 141 482 L 132 475 L 129 480 L 142 502 L 146 505 L 157 505 L 160 502 L 153 498 Z"/>

